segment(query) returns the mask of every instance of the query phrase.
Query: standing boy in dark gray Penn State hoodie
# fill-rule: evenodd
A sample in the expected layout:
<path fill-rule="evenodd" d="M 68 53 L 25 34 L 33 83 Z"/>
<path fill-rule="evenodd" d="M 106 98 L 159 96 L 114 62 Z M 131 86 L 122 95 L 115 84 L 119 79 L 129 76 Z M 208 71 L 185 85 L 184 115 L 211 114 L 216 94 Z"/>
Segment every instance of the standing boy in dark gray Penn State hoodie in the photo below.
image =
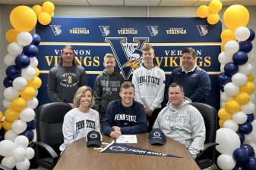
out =
<path fill-rule="evenodd" d="M 115 71 L 115 65 L 114 55 L 110 53 L 106 54 L 103 63 L 105 70 L 96 77 L 94 82 L 95 110 L 100 113 L 100 123 L 105 118 L 109 102 L 120 98 L 120 87 L 125 82 L 122 74 Z"/>

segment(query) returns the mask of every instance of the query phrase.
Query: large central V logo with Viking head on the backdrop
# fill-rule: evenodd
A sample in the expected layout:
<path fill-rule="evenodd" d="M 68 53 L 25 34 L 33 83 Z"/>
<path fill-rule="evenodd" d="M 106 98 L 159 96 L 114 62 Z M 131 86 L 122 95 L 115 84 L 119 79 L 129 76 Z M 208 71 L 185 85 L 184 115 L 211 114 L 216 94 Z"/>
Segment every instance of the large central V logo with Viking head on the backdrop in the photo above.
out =
<path fill-rule="evenodd" d="M 141 48 L 149 40 L 149 37 L 134 37 L 133 42 L 127 42 L 126 37 L 105 38 L 105 42 L 109 42 L 112 48 L 112 53 L 125 80 L 130 78 L 132 70 L 141 66 Z"/>

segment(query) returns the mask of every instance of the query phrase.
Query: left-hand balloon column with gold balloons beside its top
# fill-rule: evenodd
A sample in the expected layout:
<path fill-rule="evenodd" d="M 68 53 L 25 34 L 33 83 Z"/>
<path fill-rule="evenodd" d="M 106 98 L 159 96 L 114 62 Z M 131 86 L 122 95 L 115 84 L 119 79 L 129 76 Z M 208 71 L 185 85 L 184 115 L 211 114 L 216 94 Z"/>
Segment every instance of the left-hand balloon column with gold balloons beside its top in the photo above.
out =
<path fill-rule="evenodd" d="M 43 13 L 53 12 L 52 2 L 43 3 Z M 44 18 L 44 17 L 42 17 Z M 38 17 L 40 21 L 40 17 Z M 13 29 L 5 33 L 10 44 L 8 54 L 4 58 L 7 66 L 5 85 L 4 116 L 0 112 L 0 156 L 2 165 L 9 168 L 30 168 L 30 161 L 34 156 L 31 147 L 27 147 L 33 140 L 36 128 L 35 109 L 38 105 L 37 89 L 42 81 L 38 77 L 37 46 L 41 39 L 36 33 L 30 33 L 36 26 L 37 17 L 32 8 L 21 5 L 11 11 L 10 22 Z M 40 23 L 46 24 L 45 20 Z M 50 22 L 50 21 L 49 21 Z M 2 128 L 2 129 L 1 129 Z"/>

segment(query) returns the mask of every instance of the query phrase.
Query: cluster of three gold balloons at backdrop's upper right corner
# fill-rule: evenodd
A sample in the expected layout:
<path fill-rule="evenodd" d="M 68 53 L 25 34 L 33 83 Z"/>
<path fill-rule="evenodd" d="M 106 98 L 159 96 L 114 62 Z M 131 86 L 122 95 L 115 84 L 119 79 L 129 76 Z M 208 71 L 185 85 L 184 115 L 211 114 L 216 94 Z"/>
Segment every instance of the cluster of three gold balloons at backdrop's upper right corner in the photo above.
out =
<path fill-rule="evenodd" d="M 219 22 L 220 16 L 219 11 L 223 7 L 223 4 L 220 2 L 220 0 L 213 0 L 210 2 L 209 6 L 207 5 L 201 5 L 198 7 L 197 14 L 198 17 L 206 18 L 207 22 L 211 25 L 214 25 Z"/>

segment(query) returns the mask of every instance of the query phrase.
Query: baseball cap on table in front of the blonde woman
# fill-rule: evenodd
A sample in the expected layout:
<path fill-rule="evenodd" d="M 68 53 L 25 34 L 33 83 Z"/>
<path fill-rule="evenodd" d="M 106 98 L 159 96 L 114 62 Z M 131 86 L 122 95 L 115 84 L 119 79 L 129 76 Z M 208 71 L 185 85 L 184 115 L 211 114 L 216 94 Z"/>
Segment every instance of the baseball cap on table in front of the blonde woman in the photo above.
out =
<path fill-rule="evenodd" d="M 87 133 L 87 147 L 100 147 L 102 140 L 102 135 L 99 131 L 89 131 Z"/>

